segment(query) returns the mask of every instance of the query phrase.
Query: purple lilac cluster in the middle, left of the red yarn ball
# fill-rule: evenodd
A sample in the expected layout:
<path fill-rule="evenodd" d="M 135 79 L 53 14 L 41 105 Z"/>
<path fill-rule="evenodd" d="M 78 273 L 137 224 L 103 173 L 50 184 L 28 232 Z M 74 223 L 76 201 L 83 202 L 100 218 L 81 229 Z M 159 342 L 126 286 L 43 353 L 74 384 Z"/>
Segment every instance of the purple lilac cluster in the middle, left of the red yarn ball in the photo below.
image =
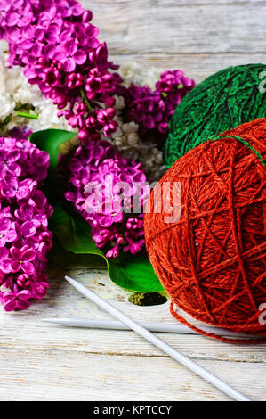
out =
<path fill-rule="evenodd" d="M 109 249 L 106 257 L 117 258 L 121 250 L 141 251 L 141 212 L 149 195 L 141 163 L 123 158 L 108 142 L 100 141 L 96 146 L 91 141 L 77 147 L 69 160 L 69 171 L 65 197 L 92 226 L 96 245 Z"/>

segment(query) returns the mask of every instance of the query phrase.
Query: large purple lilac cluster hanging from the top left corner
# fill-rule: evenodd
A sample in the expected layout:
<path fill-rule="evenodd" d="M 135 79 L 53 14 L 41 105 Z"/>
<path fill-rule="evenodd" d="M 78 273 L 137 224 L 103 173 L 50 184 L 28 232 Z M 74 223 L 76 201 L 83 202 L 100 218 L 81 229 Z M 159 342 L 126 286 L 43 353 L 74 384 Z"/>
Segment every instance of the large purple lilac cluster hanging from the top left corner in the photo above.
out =
<path fill-rule="evenodd" d="M 92 12 L 75 0 L 2 0 L 0 37 L 8 62 L 52 99 L 81 140 L 117 129 L 114 94 L 122 79 L 97 39 Z"/>

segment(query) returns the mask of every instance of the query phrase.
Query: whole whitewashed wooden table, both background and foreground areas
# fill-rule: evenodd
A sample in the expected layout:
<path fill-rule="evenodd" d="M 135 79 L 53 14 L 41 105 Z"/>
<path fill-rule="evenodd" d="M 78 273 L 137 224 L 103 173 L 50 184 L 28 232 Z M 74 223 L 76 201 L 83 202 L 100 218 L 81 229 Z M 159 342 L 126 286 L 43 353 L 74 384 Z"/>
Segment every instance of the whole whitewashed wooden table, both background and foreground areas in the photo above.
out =
<path fill-rule="evenodd" d="M 116 62 L 181 68 L 200 81 L 223 67 L 266 60 L 264 0 L 85 0 Z M 51 290 L 27 312 L 0 311 L 2 400 L 226 400 L 220 391 L 132 332 L 44 325 L 48 316 L 109 318 L 69 274 L 139 321 L 174 322 L 168 303 L 137 307 L 92 257 L 53 253 Z M 266 399 L 265 345 L 158 335 L 254 400 Z"/>

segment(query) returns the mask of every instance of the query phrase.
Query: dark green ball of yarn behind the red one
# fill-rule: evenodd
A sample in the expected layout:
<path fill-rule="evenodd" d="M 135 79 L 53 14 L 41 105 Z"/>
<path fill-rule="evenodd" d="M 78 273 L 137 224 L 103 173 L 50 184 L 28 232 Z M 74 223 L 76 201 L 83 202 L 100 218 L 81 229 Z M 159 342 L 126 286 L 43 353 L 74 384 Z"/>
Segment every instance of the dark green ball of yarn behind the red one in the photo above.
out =
<path fill-rule="evenodd" d="M 229 67 L 191 90 L 181 100 L 170 123 L 165 143 L 166 168 L 208 138 L 265 118 L 266 93 L 259 89 L 265 70 L 264 64 Z"/>

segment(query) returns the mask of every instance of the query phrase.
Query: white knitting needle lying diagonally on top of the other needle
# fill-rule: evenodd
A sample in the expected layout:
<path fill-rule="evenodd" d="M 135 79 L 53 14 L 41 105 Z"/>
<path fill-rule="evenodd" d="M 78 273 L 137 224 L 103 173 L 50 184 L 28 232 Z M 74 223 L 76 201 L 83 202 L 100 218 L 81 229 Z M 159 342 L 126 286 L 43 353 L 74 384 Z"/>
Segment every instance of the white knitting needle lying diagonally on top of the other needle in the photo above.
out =
<path fill-rule="evenodd" d="M 105 309 L 109 312 L 112 316 L 116 317 L 118 320 L 123 322 L 125 325 L 130 327 L 134 332 L 140 334 L 143 338 L 147 339 L 150 343 L 153 343 L 158 349 L 161 349 L 170 357 L 173 357 L 176 361 L 178 361 L 182 366 L 187 366 L 189 370 L 193 371 L 201 378 L 204 378 L 206 382 L 210 382 L 219 390 L 222 390 L 225 394 L 233 398 L 234 400 L 238 401 L 251 401 L 250 398 L 247 398 L 244 394 L 240 393 L 238 390 L 231 387 L 226 382 L 223 382 L 220 378 L 216 377 L 214 374 L 207 371 L 202 366 L 199 366 L 196 362 L 189 359 L 189 357 L 185 357 L 176 349 L 173 349 L 172 346 L 165 343 L 165 341 L 161 341 L 157 336 L 153 333 L 150 333 L 147 329 L 138 325 L 134 322 L 130 317 L 126 316 L 121 311 L 117 310 L 114 306 L 109 304 L 106 300 L 102 300 L 97 294 L 86 288 L 81 283 L 75 281 L 75 279 L 70 278 L 69 276 L 65 276 L 66 280 L 73 285 L 77 291 L 81 292 L 85 295 L 89 300 L 95 302 L 98 306 Z"/>

